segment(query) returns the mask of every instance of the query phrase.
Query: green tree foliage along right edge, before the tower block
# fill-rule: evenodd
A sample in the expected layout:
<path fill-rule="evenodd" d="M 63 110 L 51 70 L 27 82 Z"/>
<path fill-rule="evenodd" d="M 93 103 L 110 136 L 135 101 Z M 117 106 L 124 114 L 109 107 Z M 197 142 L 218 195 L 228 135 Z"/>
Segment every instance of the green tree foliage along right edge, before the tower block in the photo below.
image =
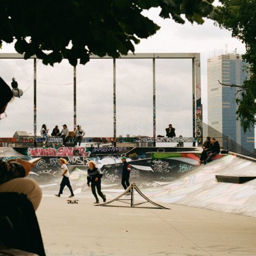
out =
<path fill-rule="evenodd" d="M 237 119 L 244 132 L 256 125 L 256 0 L 220 0 L 217 21 L 221 28 L 245 43 L 243 59 L 249 63 L 250 77 L 240 86 L 236 103 Z"/>

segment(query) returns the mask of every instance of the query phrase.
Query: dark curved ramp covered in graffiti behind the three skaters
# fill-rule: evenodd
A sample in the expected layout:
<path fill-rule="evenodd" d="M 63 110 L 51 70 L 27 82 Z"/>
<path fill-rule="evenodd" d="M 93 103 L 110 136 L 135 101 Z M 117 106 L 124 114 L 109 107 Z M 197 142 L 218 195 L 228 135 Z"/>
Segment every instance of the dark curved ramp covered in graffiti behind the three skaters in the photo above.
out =
<path fill-rule="evenodd" d="M 131 165 L 130 181 L 135 182 L 140 189 L 162 187 L 179 179 L 185 173 L 194 171 L 198 166 L 198 156 L 196 156 L 197 159 L 178 157 L 180 153 L 175 154 L 175 156 L 173 159 L 148 158 L 136 161 L 127 158 L 127 162 Z M 121 185 L 123 163 L 120 157 L 94 160 L 98 163 L 98 167 L 103 174 L 101 179 L 102 189 L 107 189 L 109 193 L 123 191 Z M 30 177 L 41 185 L 43 191 L 58 190 L 62 178 L 58 158 L 51 157 L 48 159 L 43 157 L 36 167 L 35 173 Z M 68 168 L 73 189 L 78 193 L 83 193 L 87 189 L 87 166 L 68 165 Z"/>

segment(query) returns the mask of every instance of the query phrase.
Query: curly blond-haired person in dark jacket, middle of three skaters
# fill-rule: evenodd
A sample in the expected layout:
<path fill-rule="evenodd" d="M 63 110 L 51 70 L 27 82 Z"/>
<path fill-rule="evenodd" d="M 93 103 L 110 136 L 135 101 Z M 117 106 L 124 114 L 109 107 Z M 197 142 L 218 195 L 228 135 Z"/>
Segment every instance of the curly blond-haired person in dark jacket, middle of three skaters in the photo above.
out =
<path fill-rule="evenodd" d="M 91 189 L 92 194 L 94 195 L 96 202 L 94 204 L 99 204 L 99 198 L 96 194 L 95 187 L 97 188 L 97 192 L 99 196 L 103 199 L 103 202 L 106 202 L 106 196 L 101 192 L 101 171 L 96 167 L 96 163 L 94 161 L 89 161 L 88 163 L 89 169 L 87 170 L 87 185 L 90 187 L 91 182 Z"/>

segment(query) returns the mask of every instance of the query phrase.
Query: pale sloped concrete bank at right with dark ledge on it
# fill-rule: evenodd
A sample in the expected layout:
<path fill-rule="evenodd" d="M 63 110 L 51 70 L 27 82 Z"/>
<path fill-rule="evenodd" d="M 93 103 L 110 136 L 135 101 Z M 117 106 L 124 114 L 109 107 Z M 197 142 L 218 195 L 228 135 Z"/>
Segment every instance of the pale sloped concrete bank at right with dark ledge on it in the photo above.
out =
<path fill-rule="evenodd" d="M 256 163 L 227 155 L 201 165 L 161 188 L 146 189 L 158 202 L 201 207 L 256 217 L 256 180 L 243 184 L 217 182 L 215 175 L 256 175 Z"/>

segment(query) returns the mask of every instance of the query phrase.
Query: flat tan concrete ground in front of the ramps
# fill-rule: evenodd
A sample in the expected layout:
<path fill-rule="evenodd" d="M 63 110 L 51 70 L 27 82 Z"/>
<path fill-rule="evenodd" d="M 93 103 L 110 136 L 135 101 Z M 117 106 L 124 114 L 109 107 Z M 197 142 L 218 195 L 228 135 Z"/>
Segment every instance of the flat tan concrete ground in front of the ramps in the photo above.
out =
<path fill-rule="evenodd" d="M 94 206 L 90 191 L 67 204 L 66 196 L 43 196 L 37 210 L 49 256 L 256 255 L 255 218 L 162 203 L 171 210 Z"/>

